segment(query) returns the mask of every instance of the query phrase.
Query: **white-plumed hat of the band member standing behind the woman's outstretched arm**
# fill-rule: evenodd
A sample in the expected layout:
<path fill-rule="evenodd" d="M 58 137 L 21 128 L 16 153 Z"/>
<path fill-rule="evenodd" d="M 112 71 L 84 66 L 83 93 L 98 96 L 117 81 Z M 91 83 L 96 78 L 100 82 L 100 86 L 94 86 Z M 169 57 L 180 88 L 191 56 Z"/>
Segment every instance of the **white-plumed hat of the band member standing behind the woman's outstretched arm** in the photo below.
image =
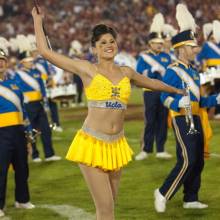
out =
<path fill-rule="evenodd" d="M 162 28 L 164 26 L 164 17 L 161 13 L 157 13 L 154 18 L 153 22 L 150 26 L 150 33 L 148 35 L 148 42 L 154 43 L 163 43 L 162 37 Z"/>

